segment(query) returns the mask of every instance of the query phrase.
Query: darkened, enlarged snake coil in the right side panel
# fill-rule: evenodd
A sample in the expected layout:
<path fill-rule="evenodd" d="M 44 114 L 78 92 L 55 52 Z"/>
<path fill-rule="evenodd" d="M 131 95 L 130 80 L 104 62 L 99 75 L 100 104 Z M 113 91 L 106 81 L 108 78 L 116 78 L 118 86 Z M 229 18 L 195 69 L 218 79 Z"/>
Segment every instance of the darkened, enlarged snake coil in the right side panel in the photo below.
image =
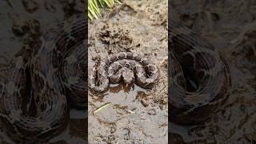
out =
<path fill-rule="evenodd" d="M 227 62 L 206 38 L 177 22 L 170 22 L 168 42 L 170 122 L 209 121 L 230 93 Z"/>

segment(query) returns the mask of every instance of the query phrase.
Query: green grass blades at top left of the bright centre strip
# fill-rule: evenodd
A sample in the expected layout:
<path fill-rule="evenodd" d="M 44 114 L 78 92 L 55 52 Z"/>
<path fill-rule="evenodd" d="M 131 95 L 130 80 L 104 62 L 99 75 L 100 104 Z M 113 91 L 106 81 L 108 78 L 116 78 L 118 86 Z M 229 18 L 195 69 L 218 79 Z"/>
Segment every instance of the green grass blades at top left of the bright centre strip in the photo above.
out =
<path fill-rule="evenodd" d="M 101 13 L 100 8 L 113 7 L 118 0 L 89 0 L 88 1 L 88 17 L 90 19 L 98 18 Z"/>

